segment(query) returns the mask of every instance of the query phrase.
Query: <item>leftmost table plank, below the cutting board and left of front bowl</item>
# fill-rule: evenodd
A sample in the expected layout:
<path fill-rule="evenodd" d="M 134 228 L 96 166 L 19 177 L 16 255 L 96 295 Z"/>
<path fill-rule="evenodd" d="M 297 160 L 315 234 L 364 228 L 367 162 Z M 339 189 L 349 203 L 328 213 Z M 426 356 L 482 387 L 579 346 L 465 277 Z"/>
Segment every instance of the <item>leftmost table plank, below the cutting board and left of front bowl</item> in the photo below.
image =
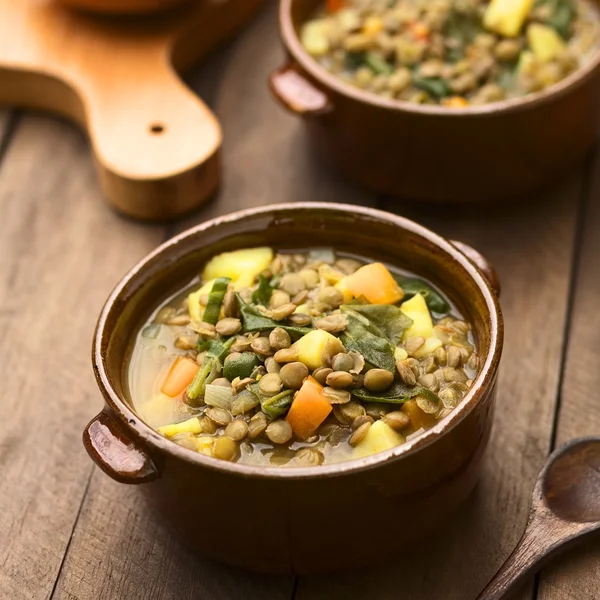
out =
<path fill-rule="evenodd" d="M 1 598 L 51 594 L 91 472 L 96 317 L 163 236 L 108 209 L 87 155 L 74 128 L 26 117 L 0 166 Z"/>

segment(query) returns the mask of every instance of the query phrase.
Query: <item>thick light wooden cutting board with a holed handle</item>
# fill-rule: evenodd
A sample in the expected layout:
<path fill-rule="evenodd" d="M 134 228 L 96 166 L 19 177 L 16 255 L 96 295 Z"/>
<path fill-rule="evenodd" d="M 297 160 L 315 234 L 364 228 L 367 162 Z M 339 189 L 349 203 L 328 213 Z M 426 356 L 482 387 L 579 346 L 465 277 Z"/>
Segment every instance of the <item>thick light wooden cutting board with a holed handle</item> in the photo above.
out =
<path fill-rule="evenodd" d="M 108 18 L 0 0 L 0 104 L 49 110 L 89 134 L 118 210 L 175 218 L 219 181 L 221 129 L 179 73 L 244 25 L 263 0 L 196 0 Z"/>

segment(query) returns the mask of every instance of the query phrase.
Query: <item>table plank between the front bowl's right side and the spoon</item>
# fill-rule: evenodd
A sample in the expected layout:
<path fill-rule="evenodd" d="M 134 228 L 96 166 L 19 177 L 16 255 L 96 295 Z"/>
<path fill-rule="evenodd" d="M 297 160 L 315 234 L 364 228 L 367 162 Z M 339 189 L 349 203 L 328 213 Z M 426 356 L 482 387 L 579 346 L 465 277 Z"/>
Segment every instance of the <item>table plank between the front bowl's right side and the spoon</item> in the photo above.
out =
<path fill-rule="evenodd" d="M 573 173 L 527 203 L 387 204 L 478 248 L 498 270 L 506 338 L 494 431 L 475 493 L 435 539 L 364 571 L 303 577 L 298 600 L 391 599 L 399 590 L 403 600 L 465 600 L 508 556 L 523 531 L 531 487 L 550 444 L 580 191 L 581 174 Z M 363 510 L 357 507 L 358 522 L 365 519 Z M 399 508 L 377 521 L 393 518 L 410 516 Z M 531 598 L 531 587 L 520 597 Z"/>

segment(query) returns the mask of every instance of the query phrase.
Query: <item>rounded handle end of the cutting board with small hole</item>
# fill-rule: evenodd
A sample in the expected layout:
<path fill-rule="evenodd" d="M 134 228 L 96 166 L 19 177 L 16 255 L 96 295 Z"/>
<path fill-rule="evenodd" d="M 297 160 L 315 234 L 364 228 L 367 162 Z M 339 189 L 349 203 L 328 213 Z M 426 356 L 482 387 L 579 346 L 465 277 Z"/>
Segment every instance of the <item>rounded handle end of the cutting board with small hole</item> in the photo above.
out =
<path fill-rule="evenodd" d="M 138 218 L 180 215 L 218 181 L 220 126 L 161 58 L 121 53 L 117 69 L 76 84 L 104 191 Z"/>

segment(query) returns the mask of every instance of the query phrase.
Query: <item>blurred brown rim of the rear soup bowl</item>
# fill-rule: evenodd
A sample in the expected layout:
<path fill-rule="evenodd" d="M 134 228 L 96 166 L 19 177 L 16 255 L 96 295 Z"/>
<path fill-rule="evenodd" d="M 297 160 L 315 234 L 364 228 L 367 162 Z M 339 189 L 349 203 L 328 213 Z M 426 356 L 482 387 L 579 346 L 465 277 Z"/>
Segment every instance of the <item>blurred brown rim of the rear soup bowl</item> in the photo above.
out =
<path fill-rule="evenodd" d="M 290 52 L 294 61 L 306 72 L 316 79 L 325 88 L 333 89 L 335 92 L 347 98 L 357 100 L 364 104 L 376 106 L 387 110 L 413 113 L 419 115 L 431 115 L 439 117 L 464 116 L 489 116 L 496 113 L 512 113 L 551 102 L 568 94 L 572 88 L 583 85 L 595 76 L 595 71 L 600 67 L 600 46 L 590 56 L 588 62 L 578 67 L 565 77 L 562 81 L 541 90 L 527 94 L 521 98 L 509 98 L 489 104 L 469 105 L 462 108 L 453 108 L 441 105 L 415 104 L 403 100 L 392 100 L 383 98 L 377 94 L 366 92 L 336 77 L 327 69 L 322 67 L 312 56 L 304 50 L 300 39 L 296 35 L 294 20 L 292 19 L 292 5 L 299 0 L 281 0 L 279 4 L 279 28 L 283 43 Z"/>

